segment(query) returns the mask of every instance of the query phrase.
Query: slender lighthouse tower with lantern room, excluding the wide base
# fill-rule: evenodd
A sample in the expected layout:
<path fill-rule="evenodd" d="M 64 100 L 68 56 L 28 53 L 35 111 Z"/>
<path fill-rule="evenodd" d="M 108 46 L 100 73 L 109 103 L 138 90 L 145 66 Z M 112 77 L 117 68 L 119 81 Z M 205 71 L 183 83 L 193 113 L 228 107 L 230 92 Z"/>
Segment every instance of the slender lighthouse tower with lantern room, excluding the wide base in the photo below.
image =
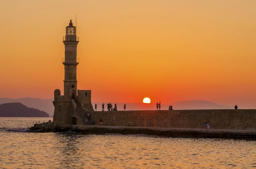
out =
<path fill-rule="evenodd" d="M 76 49 L 78 44 L 76 37 L 76 27 L 73 26 L 70 19 L 69 25 L 66 27 L 66 36 L 63 38 L 65 45 L 65 79 L 64 79 L 64 96 L 70 96 L 72 99 L 77 100 L 77 80 L 76 80 L 76 66 L 78 64 L 76 57 Z"/>

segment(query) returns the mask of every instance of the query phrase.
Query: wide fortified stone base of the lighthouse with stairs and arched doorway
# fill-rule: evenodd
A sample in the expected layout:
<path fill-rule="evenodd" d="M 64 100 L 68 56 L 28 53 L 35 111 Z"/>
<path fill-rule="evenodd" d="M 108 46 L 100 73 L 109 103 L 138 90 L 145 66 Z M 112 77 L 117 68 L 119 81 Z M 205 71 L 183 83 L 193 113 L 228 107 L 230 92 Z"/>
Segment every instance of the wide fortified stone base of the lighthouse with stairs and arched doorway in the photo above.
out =
<path fill-rule="evenodd" d="M 61 125 L 84 125 L 87 111 L 93 111 L 91 90 L 77 90 L 77 97 L 61 95 L 60 90 L 54 91 L 53 122 Z"/>

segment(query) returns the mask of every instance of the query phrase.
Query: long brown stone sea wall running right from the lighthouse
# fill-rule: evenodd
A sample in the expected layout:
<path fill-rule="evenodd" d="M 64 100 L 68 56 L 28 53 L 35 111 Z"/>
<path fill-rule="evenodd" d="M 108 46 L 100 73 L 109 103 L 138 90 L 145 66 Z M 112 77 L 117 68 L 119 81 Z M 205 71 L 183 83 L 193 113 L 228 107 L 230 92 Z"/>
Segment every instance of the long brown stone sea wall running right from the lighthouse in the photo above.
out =
<path fill-rule="evenodd" d="M 142 111 L 92 111 L 89 124 L 103 123 L 112 126 L 133 124 L 140 127 L 171 127 L 204 129 L 256 130 L 256 110 L 142 110 Z"/>

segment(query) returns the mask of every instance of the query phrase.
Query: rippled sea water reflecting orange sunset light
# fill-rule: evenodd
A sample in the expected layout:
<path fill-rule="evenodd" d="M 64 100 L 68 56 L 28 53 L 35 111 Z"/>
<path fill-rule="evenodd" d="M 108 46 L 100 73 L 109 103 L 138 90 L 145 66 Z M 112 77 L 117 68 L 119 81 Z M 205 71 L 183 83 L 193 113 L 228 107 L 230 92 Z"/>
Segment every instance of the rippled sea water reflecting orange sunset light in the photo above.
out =
<path fill-rule="evenodd" d="M 48 120 L 0 117 L 1 169 L 256 168 L 256 141 L 10 131 Z"/>

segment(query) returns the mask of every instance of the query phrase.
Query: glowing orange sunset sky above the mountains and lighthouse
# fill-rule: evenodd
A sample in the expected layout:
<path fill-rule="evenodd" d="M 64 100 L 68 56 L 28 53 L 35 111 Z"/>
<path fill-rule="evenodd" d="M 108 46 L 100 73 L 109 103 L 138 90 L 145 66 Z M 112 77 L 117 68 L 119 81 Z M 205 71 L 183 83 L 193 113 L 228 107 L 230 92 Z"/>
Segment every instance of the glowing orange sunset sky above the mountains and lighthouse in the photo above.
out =
<path fill-rule="evenodd" d="M 93 102 L 256 108 L 255 0 L 3 1 L 0 97 L 63 94 L 62 36 L 76 14 L 78 89 Z"/>

